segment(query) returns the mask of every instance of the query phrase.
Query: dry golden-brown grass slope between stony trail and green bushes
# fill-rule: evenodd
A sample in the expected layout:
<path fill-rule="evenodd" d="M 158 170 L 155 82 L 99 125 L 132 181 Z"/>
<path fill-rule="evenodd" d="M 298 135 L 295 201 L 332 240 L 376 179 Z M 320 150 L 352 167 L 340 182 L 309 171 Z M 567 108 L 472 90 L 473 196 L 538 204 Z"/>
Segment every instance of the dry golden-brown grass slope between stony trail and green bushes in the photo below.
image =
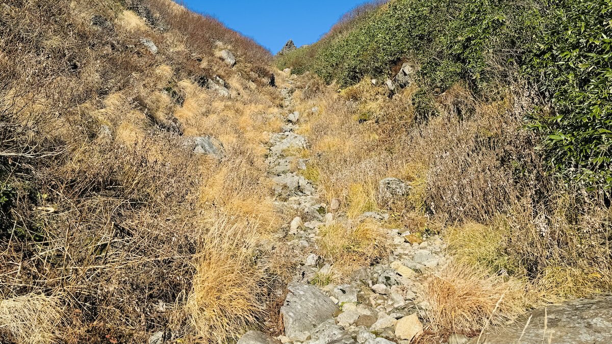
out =
<path fill-rule="evenodd" d="M 523 281 L 525 304 L 612 290 L 610 207 L 545 173 L 535 136 L 523 130 L 529 99 L 501 90 L 482 102 L 455 84 L 432 95 L 436 114 L 422 118 L 419 85 L 389 94 L 364 78 L 340 92 L 334 84 L 306 92 L 313 78 L 296 82 L 301 133 L 341 211 L 383 209 L 387 225 L 445 233 L 461 264 Z M 387 177 L 411 183 L 405 202 L 372 201 Z"/>

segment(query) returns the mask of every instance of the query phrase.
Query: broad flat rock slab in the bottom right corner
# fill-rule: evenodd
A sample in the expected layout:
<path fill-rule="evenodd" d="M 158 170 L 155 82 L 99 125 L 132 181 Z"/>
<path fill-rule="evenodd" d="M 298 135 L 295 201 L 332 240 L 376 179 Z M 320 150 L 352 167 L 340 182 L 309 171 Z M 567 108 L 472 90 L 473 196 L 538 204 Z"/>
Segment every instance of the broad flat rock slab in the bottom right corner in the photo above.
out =
<path fill-rule="evenodd" d="M 531 321 L 528 323 L 529 316 Z M 487 344 L 594 344 L 612 343 L 612 297 L 578 299 L 540 308 L 515 324 L 487 331 Z M 524 334 L 523 334 L 524 331 Z M 478 337 L 469 343 L 477 343 Z"/>

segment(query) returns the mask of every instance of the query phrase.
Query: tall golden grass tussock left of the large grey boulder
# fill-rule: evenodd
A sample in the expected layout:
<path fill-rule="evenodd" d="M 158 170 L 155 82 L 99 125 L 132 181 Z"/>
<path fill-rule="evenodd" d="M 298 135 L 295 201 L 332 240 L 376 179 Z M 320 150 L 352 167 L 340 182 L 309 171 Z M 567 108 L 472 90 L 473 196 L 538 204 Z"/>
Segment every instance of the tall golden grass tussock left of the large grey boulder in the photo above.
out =
<path fill-rule="evenodd" d="M 204 235 L 185 308 L 199 337 L 225 343 L 263 318 L 266 274 L 254 261 L 252 228 L 220 220 Z"/>

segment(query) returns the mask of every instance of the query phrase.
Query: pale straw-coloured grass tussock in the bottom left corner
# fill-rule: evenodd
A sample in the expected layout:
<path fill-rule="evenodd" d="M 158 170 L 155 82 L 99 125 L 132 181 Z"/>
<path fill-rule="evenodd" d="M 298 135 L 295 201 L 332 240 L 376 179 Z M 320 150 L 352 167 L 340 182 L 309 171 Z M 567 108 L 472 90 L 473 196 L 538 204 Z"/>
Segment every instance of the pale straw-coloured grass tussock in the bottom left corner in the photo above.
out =
<path fill-rule="evenodd" d="M 65 307 L 60 297 L 26 294 L 0 300 L 0 340 L 22 344 L 59 343 Z"/>

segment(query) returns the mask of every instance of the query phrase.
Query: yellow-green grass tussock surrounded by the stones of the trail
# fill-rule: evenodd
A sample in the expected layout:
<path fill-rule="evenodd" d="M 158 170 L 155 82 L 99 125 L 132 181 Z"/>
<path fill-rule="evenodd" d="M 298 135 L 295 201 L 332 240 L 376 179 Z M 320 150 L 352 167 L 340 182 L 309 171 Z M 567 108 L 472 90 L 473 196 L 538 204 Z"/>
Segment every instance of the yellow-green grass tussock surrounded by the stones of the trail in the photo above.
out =
<path fill-rule="evenodd" d="M 334 261 L 334 269 L 348 275 L 369 266 L 390 252 L 387 231 L 373 220 L 333 223 L 319 230 L 321 254 Z"/>

